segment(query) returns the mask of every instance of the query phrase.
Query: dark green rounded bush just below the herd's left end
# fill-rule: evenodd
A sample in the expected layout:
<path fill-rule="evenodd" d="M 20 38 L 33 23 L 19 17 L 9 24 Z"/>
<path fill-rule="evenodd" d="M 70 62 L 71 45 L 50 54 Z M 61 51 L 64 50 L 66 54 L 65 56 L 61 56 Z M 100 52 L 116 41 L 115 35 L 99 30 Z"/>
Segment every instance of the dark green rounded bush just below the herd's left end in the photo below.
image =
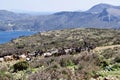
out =
<path fill-rule="evenodd" d="M 29 63 L 26 61 L 21 61 L 13 65 L 14 71 L 26 70 L 29 67 Z"/>

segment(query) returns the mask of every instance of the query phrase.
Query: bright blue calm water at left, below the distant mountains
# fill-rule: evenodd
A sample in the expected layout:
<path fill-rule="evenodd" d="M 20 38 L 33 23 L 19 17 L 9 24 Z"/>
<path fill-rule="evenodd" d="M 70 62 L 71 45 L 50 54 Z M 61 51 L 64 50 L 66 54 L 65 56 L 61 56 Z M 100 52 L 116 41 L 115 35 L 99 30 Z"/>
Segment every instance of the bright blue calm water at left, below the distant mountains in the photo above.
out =
<path fill-rule="evenodd" d="M 9 42 L 20 36 L 29 36 L 35 33 L 33 31 L 0 31 L 0 44 Z"/>

